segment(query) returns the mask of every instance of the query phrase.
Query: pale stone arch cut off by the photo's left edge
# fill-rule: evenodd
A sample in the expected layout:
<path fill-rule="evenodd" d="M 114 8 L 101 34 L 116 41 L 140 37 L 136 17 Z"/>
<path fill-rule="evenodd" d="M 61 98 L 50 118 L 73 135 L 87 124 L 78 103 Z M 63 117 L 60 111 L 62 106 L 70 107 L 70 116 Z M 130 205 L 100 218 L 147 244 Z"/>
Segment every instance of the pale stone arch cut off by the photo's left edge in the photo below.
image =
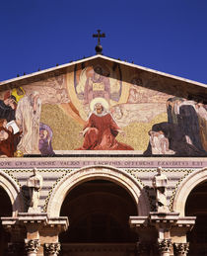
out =
<path fill-rule="evenodd" d="M 0 170 L 0 186 L 6 191 L 10 198 L 13 216 L 16 216 L 18 212 L 24 212 L 24 203 L 21 197 L 20 187 L 2 170 Z"/>

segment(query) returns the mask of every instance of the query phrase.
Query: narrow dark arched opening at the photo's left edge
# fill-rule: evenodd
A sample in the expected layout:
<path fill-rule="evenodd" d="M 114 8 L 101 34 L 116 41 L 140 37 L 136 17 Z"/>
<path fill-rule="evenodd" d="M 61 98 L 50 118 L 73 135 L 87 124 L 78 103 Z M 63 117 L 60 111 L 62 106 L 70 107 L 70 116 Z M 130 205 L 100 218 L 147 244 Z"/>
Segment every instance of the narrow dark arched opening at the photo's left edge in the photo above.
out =
<path fill-rule="evenodd" d="M 12 205 L 10 198 L 6 191 L 0 186 L 0 217 L 11 216 L 12 215 Z M 0 255 L 6 255 L 8 242 L 10 241 L 10 235 L 6 232 L 2 226 L 2 221 L 0 220 Z"/>

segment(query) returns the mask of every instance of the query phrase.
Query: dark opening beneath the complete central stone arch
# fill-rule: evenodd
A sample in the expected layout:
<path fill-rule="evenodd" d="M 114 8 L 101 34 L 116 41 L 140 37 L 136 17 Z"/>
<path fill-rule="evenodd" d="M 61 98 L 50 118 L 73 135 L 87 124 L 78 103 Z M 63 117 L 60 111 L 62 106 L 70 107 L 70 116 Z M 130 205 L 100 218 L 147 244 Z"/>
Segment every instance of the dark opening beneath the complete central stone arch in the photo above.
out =
<path fill-rule="evenodd" d="M 137 214 L 132 197 L 113 182 L 92 180 L 76 186 L 61 208 L 60 215 L 70 222 L 67 232 L 60 234 L 62 255 L 133 253 L 138 237 L 129 227 L 129 216 Z"/>

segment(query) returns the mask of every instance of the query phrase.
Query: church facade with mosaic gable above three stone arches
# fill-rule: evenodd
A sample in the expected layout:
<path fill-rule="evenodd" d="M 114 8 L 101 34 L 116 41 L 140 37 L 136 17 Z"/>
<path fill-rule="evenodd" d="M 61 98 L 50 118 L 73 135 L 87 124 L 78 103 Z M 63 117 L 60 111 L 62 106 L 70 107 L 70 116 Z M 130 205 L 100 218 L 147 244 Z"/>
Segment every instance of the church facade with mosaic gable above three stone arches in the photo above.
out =
<path fill-rule="evenodd" d="M 0 83 L 0 255 L 207 255 L 207 86 L 102 54 Z"/>

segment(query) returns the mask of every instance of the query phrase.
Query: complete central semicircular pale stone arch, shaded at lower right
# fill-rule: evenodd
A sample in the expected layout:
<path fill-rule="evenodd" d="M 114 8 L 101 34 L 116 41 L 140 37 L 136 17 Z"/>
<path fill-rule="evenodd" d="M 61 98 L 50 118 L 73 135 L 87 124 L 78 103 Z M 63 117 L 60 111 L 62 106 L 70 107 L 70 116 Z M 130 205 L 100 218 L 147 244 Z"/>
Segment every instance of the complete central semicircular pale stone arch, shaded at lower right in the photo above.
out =
<path fill-rule="evenodd" d="M 125 171 L 106 166 L 82 168 L 66 175 L 54 188 L 47 205 L 49 216 L 59 216 L 61 206 L 67 194 L 76 186 L 90 180 L 108 180 L 124 188 L 132 197 L 139 215 L 150 211 L 149 201 L 142 185 Z"/>

